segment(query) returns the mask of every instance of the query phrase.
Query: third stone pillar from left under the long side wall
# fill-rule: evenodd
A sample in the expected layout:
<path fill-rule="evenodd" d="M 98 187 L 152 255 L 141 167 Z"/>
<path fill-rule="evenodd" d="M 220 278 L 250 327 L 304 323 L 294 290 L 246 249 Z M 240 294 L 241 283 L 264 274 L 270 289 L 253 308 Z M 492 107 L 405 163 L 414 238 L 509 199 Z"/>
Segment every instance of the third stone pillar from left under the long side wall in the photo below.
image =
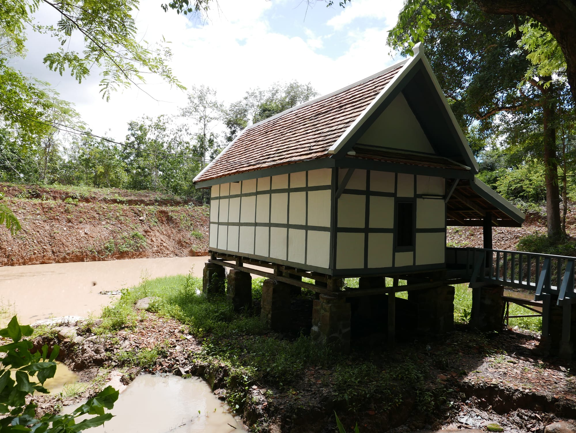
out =
<path fill-rule="evenodd" d="M 268 280 L 262 284 L 262 311 L 260 321 L 275 331 L 290 325 L 290 284 Z"/>

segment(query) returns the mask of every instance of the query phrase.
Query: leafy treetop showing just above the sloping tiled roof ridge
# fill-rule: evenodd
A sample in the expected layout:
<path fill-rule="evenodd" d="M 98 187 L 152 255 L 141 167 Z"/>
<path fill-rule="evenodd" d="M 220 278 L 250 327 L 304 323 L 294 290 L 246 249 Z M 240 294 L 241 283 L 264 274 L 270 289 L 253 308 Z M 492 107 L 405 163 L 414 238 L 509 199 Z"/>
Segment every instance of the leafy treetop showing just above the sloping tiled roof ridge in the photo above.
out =
<path fill-rule="evenodd" d="M 234 141 L 249 123 L 261 122 L 318 95 L 310 83 L 295 80 L 287 84 L 275 82 L 266 90 L 250 89 L 244 98 L 230 104 L 223 115 L 226 141 Z"/>

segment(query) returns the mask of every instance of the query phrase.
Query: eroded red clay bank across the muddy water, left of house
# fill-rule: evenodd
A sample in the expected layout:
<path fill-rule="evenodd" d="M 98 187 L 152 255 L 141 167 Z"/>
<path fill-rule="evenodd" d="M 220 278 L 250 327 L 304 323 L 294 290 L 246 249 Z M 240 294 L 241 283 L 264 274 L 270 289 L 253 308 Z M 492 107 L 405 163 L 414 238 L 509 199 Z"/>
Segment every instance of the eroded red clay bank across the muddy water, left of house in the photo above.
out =
<path fill-rule="evenodd" d="M 154 193 L 132 194 L 131 199 L 150 205 L 129 205 L 122 200 L 132 191 L 119 195 L 123 204 L 102 197 L 85 197 L 82 202 L 69 191 L 59 194 L 54 189 L 46 189 L 52 195 L 40 198 L 15 198 L 14 187 L 0 184 L 0 191 L 3 187 L 7 197 L 3 202 L 14 211 L 22 230 L 10 236 L 0 228 L 0 266 L 184 257 L 208 251 L 207 206 L 152 205 L 159 201 Z M 68 202 L 62 201 L 65 195 Z"/>

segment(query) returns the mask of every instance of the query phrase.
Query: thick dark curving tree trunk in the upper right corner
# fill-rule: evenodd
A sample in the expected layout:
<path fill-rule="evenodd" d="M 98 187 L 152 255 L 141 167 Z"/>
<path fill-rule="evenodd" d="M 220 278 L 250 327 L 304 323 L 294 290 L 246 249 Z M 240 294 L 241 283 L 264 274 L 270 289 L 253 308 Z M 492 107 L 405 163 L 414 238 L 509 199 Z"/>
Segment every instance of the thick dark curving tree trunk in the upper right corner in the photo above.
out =
<path fill-rule="evenodd" d="M 576 101 L 576 0 L 473 0 L 486 13 L 525 15 L 541 22 L 558 41 Z"/>

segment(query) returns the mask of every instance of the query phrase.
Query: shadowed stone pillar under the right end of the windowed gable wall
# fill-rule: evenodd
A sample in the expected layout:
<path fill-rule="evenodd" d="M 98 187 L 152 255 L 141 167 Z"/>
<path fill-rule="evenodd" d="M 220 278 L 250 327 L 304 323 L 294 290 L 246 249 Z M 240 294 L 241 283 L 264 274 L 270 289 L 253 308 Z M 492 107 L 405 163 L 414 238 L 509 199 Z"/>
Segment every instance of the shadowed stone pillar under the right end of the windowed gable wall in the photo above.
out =
<path fill-rule="evenodd" d="M 410 290 L 408 300 L 416 304 L 419 332 L 442 334 L 454 328 L 454 287 L 451 285 Z"/>

